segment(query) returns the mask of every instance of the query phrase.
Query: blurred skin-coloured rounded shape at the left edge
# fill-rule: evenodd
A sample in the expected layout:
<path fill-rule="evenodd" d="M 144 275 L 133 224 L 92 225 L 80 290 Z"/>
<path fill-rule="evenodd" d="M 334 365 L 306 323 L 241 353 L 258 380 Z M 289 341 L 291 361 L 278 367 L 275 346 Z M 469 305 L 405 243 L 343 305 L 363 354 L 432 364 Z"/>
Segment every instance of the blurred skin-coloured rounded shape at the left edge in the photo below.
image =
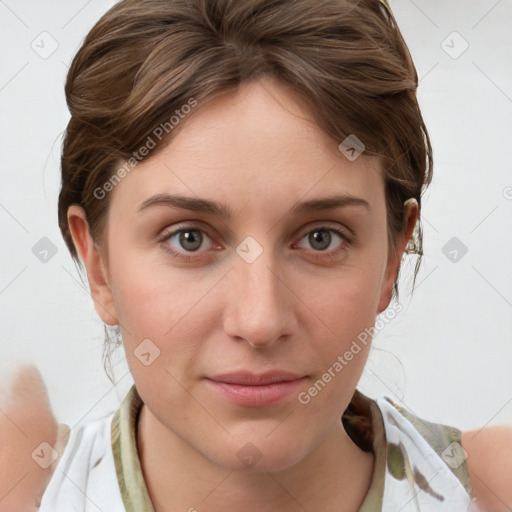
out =
<path fill-rule="evenodd" d="M 24 365 L 13 375 L 0 389 L 0 512 L 36 512 L 58 462 L 50 464 L 58 424 L 39 370 Z"/>

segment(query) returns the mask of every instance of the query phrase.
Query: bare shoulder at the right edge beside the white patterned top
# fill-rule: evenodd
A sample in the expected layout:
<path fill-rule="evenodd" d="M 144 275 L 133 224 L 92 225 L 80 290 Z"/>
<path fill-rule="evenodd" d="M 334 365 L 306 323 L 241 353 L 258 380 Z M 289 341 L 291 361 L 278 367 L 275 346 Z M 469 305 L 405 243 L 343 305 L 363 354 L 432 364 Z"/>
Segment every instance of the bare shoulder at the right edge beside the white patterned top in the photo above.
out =
<path fill-rule="evenodd" d="M 464 431 L 462 447 L 479 512 L 512 510 L 512 427 Z"/>

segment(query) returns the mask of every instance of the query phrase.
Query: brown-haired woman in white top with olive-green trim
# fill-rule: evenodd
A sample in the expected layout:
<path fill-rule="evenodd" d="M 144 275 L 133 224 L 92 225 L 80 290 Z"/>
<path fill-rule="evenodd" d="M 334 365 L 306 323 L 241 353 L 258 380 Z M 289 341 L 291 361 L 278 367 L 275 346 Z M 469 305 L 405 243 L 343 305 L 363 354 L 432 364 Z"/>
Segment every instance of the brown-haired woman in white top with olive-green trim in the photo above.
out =
<path fill-rule="evenodd" d="M 509 431 L 356 390 L 402 255 L 421 255 L 416 88 L 376 0 L 101 18 L 66 83 L 59 222 L 135 385 L 71 432 L 42 511 L 512 506 L 506 450 L 486 467 Z"/>

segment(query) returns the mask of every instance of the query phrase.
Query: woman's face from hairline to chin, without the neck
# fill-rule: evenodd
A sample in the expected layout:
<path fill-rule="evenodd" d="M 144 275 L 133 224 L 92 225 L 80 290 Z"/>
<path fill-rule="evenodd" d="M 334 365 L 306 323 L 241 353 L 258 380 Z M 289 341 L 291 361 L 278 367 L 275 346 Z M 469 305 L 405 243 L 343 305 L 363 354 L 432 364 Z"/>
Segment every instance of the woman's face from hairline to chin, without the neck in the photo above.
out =
<path fill-rule="evenodd" d="M 268 80 L 181 122 L 112 192 L 97 309 L 119 323 L 161 425 L 223 467 L 243 468 L 247 452 L 261 455 L 258 468 L 283 469 L 340 423 L 369 350 L 353 342 L 389 302 L 397 262 L 382 169 L 347 159 Z M 265 389 L 211 380 L 272 370 L 300 379 Z"/>

